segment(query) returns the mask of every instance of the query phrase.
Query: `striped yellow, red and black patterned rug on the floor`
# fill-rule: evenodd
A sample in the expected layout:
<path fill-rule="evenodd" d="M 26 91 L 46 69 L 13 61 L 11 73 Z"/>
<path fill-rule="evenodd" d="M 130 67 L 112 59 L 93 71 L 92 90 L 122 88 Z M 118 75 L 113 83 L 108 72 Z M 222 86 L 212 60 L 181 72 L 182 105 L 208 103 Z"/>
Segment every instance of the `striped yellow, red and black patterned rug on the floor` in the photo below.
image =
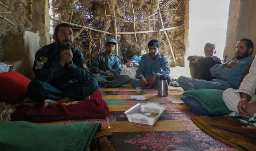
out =
<path fill-rule="evenodd" d="M 234 151 L 234 148 L 221 143 L 201 131 L 191 117 L 198 116 L 180 100 L 184 91 L 180 87 L 169 87 L 167 97 L 157 96 L 157 88 L 143 89 L 137 93 L 130 84 L 119 88 L 104 88 L 103 99 L 107 102 L 112 115 L 116 115 L 114 128 L 107 128 L 104 119 L 69 120 L 73 122 L 101 123 L 102 128 L 112 132 L 109 138 L 116 151 Z M 138 101 L 130 96 L 141 95 L 149 99 Z M 157 102 L 166 105 L 163 115 L 150 126 L 129 122 L 124 112 L 137 103 Z M 57 122 L 58 123 L 58 122 Z"/>

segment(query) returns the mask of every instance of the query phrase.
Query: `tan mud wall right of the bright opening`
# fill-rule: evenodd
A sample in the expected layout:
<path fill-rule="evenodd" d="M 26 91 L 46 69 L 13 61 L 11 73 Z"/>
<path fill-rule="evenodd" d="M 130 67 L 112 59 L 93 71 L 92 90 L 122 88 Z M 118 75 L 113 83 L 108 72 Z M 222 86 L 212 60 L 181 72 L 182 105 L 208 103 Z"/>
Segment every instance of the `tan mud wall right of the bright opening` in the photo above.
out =
<path fill-rule="evenodd" d="M 236 43 L 242 38 L 252 40 L 256 46 L 256 14 L 253 8 L 256 7 L 255 0 L 230 0 L 228 29 L 226 34 L 226 46 L 224 54 L 228 55 L 227 60 L 235 57 Z M 255 56 L 256 48 L 252 53 Z"/>

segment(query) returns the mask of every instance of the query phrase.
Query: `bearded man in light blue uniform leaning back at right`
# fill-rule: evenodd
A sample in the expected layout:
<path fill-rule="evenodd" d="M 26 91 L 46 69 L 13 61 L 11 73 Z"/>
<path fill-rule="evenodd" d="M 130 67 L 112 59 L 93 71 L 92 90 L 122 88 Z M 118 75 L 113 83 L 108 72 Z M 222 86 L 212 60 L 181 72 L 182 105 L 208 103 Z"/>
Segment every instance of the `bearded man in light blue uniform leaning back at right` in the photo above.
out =
<path fill-rule="evenodd" d="M 216 79 L 206 81 L 180 76 L 178 78 L 178 83 L 185 91 L 191 89 L 238 89 L 242 82 L 241 77 L 244 71 L 254 59 L 250 56 L 252 51 L 252 41 L 243 38 L 236 44 L 235 58 L 220 65 L 216 64 L 210 68 L 212 77 L 215 77 Z"/>

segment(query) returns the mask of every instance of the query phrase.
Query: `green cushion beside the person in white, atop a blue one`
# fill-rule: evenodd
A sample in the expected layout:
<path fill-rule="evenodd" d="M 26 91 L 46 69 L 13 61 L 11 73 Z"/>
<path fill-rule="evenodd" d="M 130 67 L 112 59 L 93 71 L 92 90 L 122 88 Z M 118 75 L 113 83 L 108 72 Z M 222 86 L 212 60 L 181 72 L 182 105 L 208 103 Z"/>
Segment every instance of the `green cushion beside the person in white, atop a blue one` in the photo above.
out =
<path fill-rule="evenodd" d="M 219 112 L 229 114 L 231 111 L 222 100 L 223 92 L 224 90 L 218 89 L 193 89 L 181 95 L 196 99 L 209 113 Z"/>

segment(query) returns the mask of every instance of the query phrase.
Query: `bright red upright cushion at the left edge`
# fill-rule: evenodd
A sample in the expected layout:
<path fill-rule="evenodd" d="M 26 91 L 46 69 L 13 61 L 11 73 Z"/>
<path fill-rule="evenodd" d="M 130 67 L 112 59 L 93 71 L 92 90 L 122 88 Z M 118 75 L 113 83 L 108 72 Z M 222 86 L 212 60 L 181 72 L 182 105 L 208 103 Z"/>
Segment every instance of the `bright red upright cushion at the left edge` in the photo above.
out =
<path fill-rule="evenodd" d="M 30 81 L 16 71 L 0 73 L 0 102 L 15 104 L 25 98 Z"/>

